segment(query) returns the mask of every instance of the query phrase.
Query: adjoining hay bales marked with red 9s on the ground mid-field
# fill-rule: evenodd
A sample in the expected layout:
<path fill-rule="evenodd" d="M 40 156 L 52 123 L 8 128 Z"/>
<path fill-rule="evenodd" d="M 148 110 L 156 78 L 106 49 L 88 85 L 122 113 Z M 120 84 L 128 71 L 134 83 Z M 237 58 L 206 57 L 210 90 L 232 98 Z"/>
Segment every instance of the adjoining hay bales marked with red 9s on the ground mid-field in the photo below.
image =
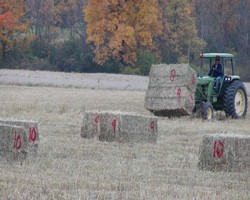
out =
<path fill-rule="evenodd" d="M 112 111 L 83 113 L 81 137 L 97 137 L 101 141 L 157 141 L 157 118 Z"/>

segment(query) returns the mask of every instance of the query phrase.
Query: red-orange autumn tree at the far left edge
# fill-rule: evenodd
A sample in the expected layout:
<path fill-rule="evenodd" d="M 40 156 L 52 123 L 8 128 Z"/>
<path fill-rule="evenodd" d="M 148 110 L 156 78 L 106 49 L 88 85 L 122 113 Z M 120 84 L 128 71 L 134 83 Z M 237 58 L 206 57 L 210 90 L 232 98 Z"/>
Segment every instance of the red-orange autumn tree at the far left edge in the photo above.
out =
<path fill-rule="evenodd" d="M 2 59 L 22 33 L 28 31 L 24 0 L 0 0 L 0 46 Z"/>

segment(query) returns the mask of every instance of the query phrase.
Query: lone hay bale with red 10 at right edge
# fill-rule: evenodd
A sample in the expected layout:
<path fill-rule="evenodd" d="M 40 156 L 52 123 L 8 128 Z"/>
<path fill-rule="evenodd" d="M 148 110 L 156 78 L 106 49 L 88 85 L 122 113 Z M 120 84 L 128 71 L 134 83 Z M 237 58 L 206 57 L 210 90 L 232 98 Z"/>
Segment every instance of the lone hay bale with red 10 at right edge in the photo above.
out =
<path fill-rule="evenodd" d="M 204 136 L 198 167 L 211 171 L 250 171 L 250 136 Z"/>

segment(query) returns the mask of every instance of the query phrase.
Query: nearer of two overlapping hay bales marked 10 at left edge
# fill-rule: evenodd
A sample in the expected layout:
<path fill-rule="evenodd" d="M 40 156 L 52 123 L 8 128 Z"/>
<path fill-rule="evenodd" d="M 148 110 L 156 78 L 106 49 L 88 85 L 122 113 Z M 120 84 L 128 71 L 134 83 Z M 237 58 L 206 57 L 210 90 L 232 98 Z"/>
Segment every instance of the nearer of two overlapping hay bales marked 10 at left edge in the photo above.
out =
<path fill-rule="evenodd" d="M 28 138 L 21 126 L 0 124 L 0 156 L 7 160 L 24 159 L 27 154 Z"/>

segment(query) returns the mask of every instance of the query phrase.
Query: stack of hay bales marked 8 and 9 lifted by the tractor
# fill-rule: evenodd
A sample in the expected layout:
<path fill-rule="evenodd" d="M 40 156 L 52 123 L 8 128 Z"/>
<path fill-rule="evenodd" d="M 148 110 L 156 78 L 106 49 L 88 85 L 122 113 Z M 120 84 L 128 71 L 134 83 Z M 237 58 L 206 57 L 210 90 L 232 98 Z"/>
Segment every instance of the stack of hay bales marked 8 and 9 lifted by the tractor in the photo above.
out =
<path fill-rule="evenodd" d="M 197 75 L 188 64 L 152 65 L 145 107 L 158 116 L 192 114 Z"/>

